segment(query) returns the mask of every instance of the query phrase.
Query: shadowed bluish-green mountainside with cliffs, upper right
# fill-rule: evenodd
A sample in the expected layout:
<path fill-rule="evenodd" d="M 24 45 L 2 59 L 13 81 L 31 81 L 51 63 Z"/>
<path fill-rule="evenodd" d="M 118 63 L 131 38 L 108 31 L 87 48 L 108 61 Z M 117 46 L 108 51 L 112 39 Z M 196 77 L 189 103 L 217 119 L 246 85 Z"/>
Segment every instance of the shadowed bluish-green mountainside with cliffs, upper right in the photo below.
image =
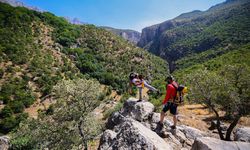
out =
<path fill-rule="evenodd" d="M 173 72 L 249 43 L 249 27 L 249 1 L 228 0 L 145 28 L 139 45 L 166 59 Z"/>

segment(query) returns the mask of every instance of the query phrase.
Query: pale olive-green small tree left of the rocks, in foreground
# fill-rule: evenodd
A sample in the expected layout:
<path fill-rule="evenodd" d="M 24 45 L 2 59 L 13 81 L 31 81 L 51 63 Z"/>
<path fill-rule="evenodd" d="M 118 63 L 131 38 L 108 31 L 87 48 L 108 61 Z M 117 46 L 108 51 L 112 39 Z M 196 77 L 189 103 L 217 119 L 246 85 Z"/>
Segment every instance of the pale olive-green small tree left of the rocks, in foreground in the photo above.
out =
<path fill-rule="evenodd" d="M 68 80 L 54 88 L 58 100 L 53 118 L 60 123 L 71 121 L 79 130 L 84 148 L 100 131 L 100 124 L 91 112 L 99 105 L 100 84 L 93 80 Z"/>

